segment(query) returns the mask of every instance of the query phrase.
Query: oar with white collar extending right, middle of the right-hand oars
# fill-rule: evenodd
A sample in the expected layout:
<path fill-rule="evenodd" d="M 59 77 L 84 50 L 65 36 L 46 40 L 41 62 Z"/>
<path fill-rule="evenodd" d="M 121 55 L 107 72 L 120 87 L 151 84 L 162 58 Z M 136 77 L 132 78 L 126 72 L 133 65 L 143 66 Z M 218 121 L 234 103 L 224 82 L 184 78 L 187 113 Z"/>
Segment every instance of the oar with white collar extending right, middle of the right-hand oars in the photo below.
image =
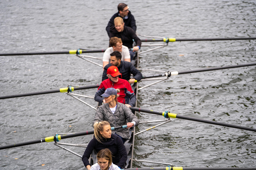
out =
<path fill-rule="evenodd" d="M 196 73 L 196 72 L 204 72 L 204 71 L 213 71 L 213 70 L 223 70 L 223 69 L 232 69 L 237 67 L 245 67 L 245 66 L 253 66 L 256 65 L 256 63 L 249 63 L 249 64 L 238 64 L 238 65 L 230 65 L 230 66 L 223 66 L 223 67 L 210 67 L 205 69 L 198 69 L 198 70 L 187 70 L 187 71 L 172 71 L 172 72 L 165 72 L 161 74 L 153 74 L 153 75 L 142 75 L 142 79 L 147 78 L 156 78 L 156 77 L 171 77 L 173 75 L 179 75 L 179 74 L 188 74 L 188 73 Z M 135 81 L 137 82 L 137 81 Z"/>

